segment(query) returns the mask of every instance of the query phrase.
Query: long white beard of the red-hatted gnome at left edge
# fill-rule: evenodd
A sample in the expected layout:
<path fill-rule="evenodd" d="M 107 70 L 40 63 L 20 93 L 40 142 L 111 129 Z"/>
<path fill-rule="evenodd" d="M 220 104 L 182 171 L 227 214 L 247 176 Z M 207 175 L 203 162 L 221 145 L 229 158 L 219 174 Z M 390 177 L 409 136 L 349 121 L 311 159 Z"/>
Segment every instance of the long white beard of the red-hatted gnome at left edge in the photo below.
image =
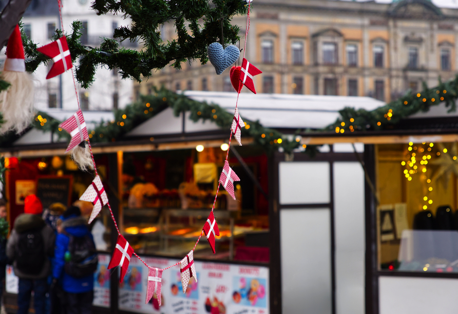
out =
<path fill-rule="evenodd" d="M 4 120 L 0 134 L 8 131 L 21 133 L 35 116 L 32 76 L 27 72 L 3 71 L 0 77 L 11 84 L 0 93 L 0 112 Z"/>

